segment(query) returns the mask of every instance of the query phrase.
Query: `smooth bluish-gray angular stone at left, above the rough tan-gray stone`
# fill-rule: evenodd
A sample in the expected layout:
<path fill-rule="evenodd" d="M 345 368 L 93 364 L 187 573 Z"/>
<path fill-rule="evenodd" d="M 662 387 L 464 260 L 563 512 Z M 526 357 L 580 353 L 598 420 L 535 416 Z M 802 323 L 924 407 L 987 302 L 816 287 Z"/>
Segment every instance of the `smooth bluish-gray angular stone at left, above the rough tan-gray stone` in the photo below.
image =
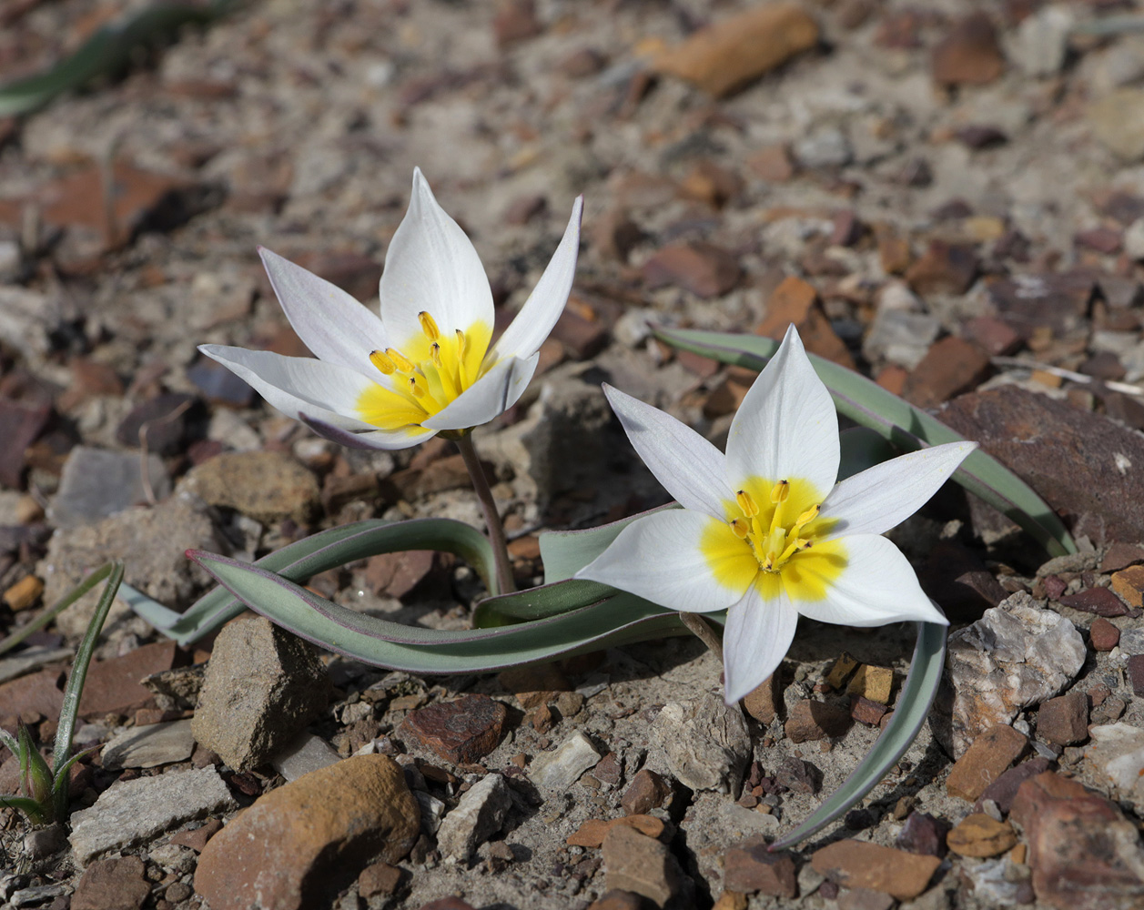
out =
<path fill-rule="evenodd" d="M 48 518 L 56 527 L 72 528 L 100 521 L 149 498 L 165 500 L 170 494 L 170 478 L 162 458 L 150 453 L 146 471 L 150 497 L 141 476 L 138 453 L 76 446 L 64 462 Z"/>

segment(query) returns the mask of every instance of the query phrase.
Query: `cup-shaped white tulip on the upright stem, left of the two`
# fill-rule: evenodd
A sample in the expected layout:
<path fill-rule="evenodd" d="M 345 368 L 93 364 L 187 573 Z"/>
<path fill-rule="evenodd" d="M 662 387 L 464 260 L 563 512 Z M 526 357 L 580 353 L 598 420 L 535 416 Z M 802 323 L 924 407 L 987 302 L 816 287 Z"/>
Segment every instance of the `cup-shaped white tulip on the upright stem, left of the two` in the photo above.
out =
<path fill-rule="evenodd" d="M 493 297 L 472 244 L 413 171 L 410 208 L 386 254 L 381 316 L 260 249 L 270 284 L 316 358 L 199 348 L 283 414 L 356 448 L 398 449 L 464 431 L 511 407 L 572 288 L 583 198 L 548 268 L 495 344 Z"/>

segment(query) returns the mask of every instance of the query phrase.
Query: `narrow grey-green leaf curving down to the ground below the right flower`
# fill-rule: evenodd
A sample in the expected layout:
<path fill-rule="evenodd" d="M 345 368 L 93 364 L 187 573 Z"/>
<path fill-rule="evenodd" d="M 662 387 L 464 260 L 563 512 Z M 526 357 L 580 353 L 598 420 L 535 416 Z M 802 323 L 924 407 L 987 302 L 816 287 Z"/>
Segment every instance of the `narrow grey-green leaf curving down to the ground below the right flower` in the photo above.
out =
<path fill-rule="evenodd" d="M 771 844 L 769 849 L 794 846 L 828 825 L 873 790 L 906 753 L 929 716 L 930 705 L 942 681 L 946 631 L 946 626 L 937 623 L 917 623 L 917 644 L 914 646 L 909 673 L 882 735 L 877 737 L 861 764 L 847 777 L 845 783 L 835 790 L 807 821 Z"/>

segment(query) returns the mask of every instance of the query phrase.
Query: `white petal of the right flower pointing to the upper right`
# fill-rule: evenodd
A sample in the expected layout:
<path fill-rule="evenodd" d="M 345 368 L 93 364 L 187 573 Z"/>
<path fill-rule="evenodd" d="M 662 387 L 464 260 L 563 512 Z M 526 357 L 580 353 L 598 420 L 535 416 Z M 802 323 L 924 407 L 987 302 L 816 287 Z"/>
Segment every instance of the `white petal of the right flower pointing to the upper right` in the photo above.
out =
<path fill-rule="evenodd" d="M 847 478 L 823 503 L 823 518 L 837 519 L 824 538 L 896 527 L 921 509 L 975 448 L 976 442 L 947 442 Z"/>

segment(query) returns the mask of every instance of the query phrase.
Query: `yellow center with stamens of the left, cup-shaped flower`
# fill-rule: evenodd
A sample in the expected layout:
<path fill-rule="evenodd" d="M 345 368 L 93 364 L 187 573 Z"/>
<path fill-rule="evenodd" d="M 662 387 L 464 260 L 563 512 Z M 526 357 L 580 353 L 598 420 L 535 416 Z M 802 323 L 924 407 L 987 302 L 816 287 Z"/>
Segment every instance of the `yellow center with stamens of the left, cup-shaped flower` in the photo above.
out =
<path fill-rule="evenodd" d="M 421 332 L 400 350 L 370 353 L 370 362 L 386 376 L 387 385 L 371 386 L 358 399 L 358 414 L 383 430 L 415 431 L 447 407 L 484 375 L 492 327 L 474 322 L 467 329 L 445 332 L 428 312 L 418 313 Z"/>

